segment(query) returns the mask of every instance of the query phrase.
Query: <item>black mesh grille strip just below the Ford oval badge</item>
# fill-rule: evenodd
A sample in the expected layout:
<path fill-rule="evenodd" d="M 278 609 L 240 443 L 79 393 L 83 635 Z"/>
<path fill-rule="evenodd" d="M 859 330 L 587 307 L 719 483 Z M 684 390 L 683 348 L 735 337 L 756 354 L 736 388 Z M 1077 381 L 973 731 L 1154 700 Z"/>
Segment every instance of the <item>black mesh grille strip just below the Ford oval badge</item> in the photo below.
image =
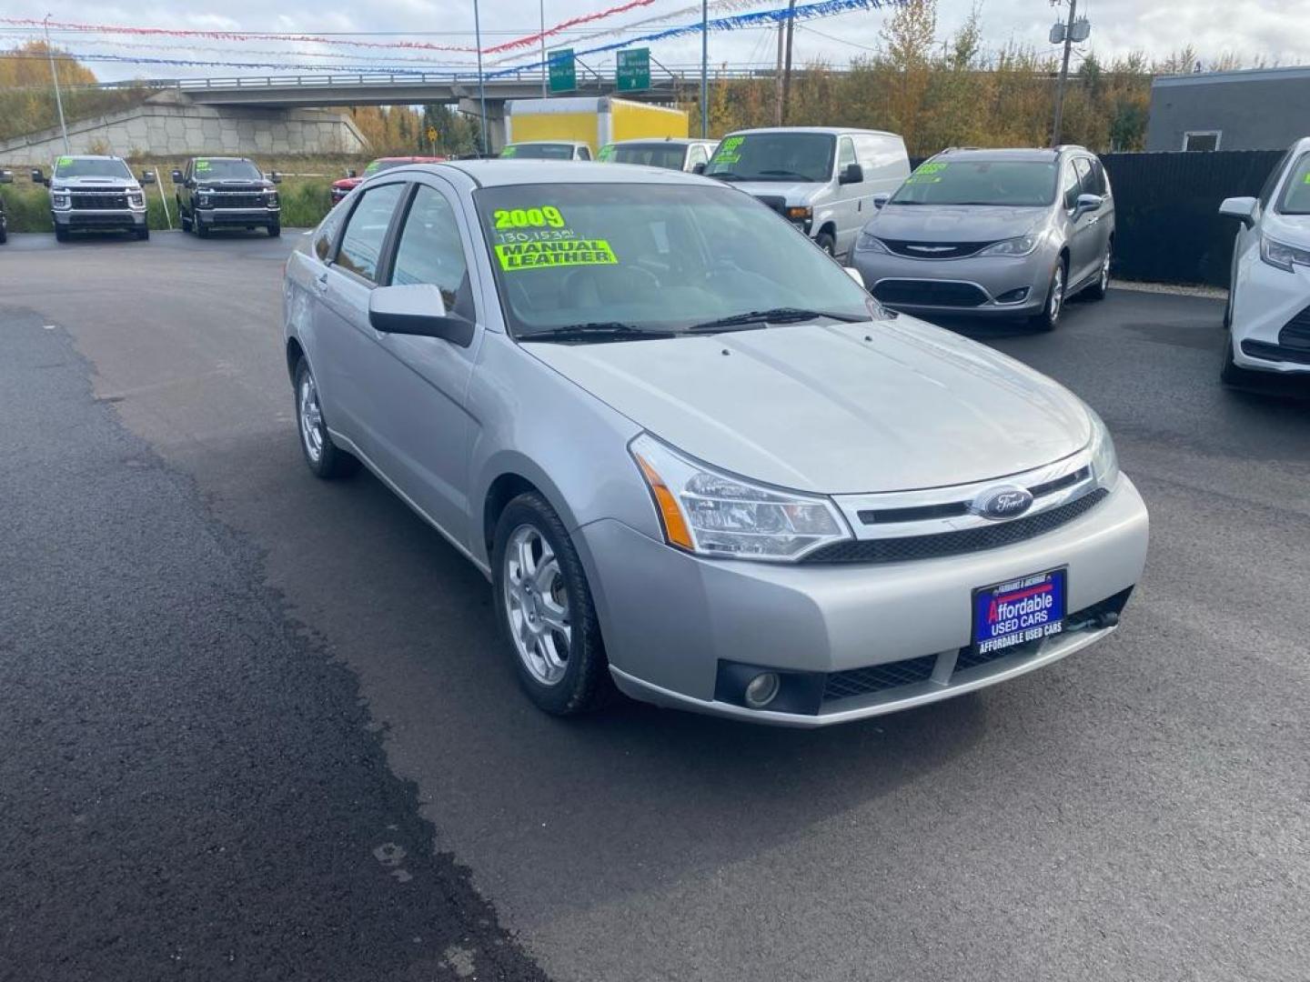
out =
<path fill-rule="evenodd" d="M 1065 525 L 1095 508 L 1110 492 L 1103 487 L 1058 508 L 1026 515 L 996 525 L 942 532 L 935 536 L 857 539 L 834 542 L 804 558 L 806 563 L 903 563 L 913 559 L 935 559 L 962 553 L 1000 549 L 1035 538 Z"/>

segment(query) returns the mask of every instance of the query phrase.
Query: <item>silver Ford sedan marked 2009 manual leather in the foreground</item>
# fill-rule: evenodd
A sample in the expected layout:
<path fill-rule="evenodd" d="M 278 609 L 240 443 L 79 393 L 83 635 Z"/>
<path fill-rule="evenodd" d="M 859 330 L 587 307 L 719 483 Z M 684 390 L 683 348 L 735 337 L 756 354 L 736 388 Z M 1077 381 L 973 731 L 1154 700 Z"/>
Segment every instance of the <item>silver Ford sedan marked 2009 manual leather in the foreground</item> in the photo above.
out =
<path fill-rule="evenodd" d="M 286 274 L 310 470 L 372 470 L 491 580 L 528 695 L 815 727 L 1115 630 L 1146 509 L 1100 419 L 887 313 L 672 170 L 377 174 Z"/>

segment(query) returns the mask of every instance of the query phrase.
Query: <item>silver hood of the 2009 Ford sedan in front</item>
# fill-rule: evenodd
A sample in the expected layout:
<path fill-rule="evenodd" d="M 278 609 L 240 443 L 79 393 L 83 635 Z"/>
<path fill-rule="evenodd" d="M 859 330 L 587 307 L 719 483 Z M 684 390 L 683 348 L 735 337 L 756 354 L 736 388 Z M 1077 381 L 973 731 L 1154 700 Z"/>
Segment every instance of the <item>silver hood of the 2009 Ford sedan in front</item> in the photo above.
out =
<path fill-rule="evenodd" d="M 1086 407 L 1058 384 L 904 316 L 524 348 L 685 453 L 799 491 L 986 481 L 1091 439 Z"/>

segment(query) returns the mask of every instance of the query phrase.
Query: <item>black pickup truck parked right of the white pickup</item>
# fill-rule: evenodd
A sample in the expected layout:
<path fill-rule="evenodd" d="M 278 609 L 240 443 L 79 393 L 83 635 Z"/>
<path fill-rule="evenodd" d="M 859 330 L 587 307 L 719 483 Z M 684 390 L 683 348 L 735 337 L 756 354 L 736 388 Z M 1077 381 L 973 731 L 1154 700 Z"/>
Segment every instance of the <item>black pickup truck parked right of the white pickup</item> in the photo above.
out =
<path fill-rule="evenodd" d="M 265 177 L 245 157 L 191 157 L 185 172 L 173 172 L 182 230 L 207 238 L 215 228 L 266 228 L 280 236 L 279 181 L 276 170 Z"/>

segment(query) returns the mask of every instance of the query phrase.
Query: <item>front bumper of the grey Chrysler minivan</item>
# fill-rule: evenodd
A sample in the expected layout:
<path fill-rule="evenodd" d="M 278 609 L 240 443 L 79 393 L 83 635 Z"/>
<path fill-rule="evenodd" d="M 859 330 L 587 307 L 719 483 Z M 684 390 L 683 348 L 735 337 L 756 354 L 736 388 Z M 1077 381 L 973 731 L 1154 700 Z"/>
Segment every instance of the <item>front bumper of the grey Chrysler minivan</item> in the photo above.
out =
<path fill-rule="evenodd" d="M 1045 249 L 1022 257 L 971 255 L 962 259 L 912 259 L 893 253 L 852 251 L 852 264 L 886 306 L 907 313 L 969 317 L 1026 317 L 1040 312 L 1047 302 L 1053 263 Z M 952 284 L 959 299 L 937 302 L 927 296 L 941 292 L 941 284 Z M 916 285 L 921 291 L 916 291 Z M 916 292 L 922 292 L 924 299 L 913 299 Z M 1013 299 L 1019 292 L 1022 296 Z"/>

